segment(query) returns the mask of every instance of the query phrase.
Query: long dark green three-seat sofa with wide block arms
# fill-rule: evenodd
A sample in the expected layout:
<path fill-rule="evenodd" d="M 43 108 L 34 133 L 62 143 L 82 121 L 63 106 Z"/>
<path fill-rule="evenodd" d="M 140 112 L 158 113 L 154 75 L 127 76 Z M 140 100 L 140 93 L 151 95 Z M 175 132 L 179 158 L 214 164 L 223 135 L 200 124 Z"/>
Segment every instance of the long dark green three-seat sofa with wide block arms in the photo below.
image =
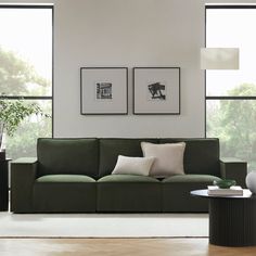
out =
<path fill-rule="evenodd" d="M 142 156 L 142 141 L 185 142 L 184 172 L 165 179 L 111 175 L 118 155 Z M 202 213 L 190 196 L 214 180 L 244 187 L 246 163 L 219 159 L 218 139 L 38 139 L 37 158 L 11 164 L 13 213 Z"/>

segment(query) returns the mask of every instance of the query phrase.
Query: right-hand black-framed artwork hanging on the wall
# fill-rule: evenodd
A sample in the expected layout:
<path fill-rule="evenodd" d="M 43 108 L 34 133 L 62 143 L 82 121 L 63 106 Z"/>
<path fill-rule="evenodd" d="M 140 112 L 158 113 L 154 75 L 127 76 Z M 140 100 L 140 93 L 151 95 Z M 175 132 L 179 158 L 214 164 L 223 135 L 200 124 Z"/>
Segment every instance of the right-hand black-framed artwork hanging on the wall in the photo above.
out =
<path fill-rule="evenodd" d="M 180 114 L 180 67 L 133 67 L 133 114 Z"/>

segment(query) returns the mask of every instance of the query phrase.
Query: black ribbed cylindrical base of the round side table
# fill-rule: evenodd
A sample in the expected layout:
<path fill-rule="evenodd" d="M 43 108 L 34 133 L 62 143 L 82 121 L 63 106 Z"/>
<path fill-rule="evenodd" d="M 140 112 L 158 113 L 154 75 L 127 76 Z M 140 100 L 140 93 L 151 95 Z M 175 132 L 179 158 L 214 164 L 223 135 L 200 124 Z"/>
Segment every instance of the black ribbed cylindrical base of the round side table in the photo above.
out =
<path fill-rule="evenodd" d="M 221 246 L 256 245 L 255 197 L 210 197 L 209 243 Z"/>

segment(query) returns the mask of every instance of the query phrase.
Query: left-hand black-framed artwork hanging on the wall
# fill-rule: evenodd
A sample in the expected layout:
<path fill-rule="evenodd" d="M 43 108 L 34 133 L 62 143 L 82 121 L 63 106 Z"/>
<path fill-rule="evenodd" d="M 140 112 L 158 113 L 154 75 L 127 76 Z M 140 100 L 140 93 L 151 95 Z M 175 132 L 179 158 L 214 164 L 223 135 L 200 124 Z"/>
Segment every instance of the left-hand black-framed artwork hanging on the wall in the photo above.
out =
<path fill-rule="evenodd" d="M 127 67 L 81 67 L 81 114 L 126 115 L 127 85 Z"/>

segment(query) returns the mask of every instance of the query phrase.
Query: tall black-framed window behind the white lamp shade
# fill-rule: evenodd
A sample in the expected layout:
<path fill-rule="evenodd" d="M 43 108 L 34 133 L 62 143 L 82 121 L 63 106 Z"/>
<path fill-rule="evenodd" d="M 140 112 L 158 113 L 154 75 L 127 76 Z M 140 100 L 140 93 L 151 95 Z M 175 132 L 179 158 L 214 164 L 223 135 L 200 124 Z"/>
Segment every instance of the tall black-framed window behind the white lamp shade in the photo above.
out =
<path fill-rule="evenodd" d="M 206 137 L 256 169 L 256 7 L 206 7 L 206 47 L 240 48 L 239 71 L 206 71 Z"/>

